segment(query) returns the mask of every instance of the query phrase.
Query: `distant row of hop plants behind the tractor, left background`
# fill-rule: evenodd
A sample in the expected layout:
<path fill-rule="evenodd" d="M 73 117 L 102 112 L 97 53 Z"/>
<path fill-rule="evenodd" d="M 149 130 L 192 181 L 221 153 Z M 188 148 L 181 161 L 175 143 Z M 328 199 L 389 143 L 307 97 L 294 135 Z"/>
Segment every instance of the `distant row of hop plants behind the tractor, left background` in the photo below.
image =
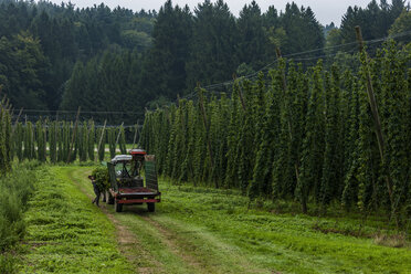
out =
<path fill-rule="evenodd" d="M 73 162 L 104 160 L 108 143 L 110 157 L 116 154 L 116 147 L 126 154 L 126 138 L 123 126 L 96 127 L 93 120 L 80 123 L 39 119 L 17 123 L 11 143 L 11 158 L 14 156 L 39 161 Z M 113 137 L 115 136 L 115 137 Z"/>

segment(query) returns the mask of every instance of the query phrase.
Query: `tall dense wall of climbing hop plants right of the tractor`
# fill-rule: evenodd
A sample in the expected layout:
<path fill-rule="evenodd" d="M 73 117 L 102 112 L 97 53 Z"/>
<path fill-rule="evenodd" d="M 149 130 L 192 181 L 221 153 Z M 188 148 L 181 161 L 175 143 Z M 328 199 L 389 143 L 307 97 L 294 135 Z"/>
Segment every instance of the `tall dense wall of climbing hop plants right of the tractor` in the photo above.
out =
<path fill-rule="evenodd" d="M 146 113 L 141 145 L 176 183 L 298 201 L 303 212 L 336 203 L 365 214 L 382 210 L 401 223 L 411 215 L 411 54 L 390 42 L 368 62 L 358 56 L 356 71 L 325 70 L 322 61 L 305 70 L 280 59 L 268 74 L 235 81 L 230 97 L 197 88 L 198 102 Z"/>

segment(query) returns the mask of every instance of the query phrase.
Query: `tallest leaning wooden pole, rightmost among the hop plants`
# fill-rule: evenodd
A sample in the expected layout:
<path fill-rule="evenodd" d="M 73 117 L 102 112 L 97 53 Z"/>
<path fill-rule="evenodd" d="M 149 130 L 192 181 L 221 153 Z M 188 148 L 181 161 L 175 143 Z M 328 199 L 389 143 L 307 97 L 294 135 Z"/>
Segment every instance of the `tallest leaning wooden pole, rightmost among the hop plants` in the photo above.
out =
<path fill-rule="evenodd" d="M 380 157 L 381 157 L 381 162 L 384 162 L 384 138 L 382 135 L 382 129 L 381 129 L 381 122 L 380 122 L 380 116 L 378 113 L 378 105 L 377 105 L 377 99 L 376 99 L 376 94 L 373 92 L 373 86 L 372 86 L 372 80 L 371 80 L 371 74 L 369 71 L 369 61 L 368 61 L 368 54 L 363 50 L 363 40 L 362 40 L 362 34 L 361 34 L 361 28 L 359 25 L 356 27 L 356 35 L 357 35 L 357 41 L 358 41 L 358 50 L 360 53 L 363 52 L 366 55 L 366 70 L 367 70 L 367 94 L 368 94 L 368 102 L 371 108 L 371 114 L 372 114 L 372 119 L 373 119 L 373 125 L 375 125 L 375 130 L 376 130 L 376 136 L 377 136 L 377 141 L 378 141 L 378 149 L 380 151 Z M 393 204 L 393 197 L 392 197 L 392 182 L 391 182 L 391 176 L 388 171 L 388 175 L 386 177 L 386 185 L 388 189 L 388 193 L 390 196 L 390 201 L 391 204 Z"/>

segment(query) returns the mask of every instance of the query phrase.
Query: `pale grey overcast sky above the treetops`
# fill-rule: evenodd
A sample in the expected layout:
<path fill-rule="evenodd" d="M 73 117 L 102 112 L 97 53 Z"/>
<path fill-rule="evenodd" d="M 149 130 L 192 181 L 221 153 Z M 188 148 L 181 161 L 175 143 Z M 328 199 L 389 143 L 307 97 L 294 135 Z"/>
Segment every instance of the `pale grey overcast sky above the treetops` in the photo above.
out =
<path fill-rule="evenodd" d="M 63 0 L 66 2 L 67 0 Z M 252 0 L 224 0 L 234 15 L 239 15 L 240 10 L 245 3 L 250 3 Z M 317 20 L 323 24 L 335 22 L 339 25 L 342 14 L 347 11 L 348 6 L 360 6 L 366 7 L 371 0 L 294 0 L 298 6 L 312 7 L 316 14 Z M 52 2 L 61 3 L 62 0 L 52 0 Z M 78 8 L 92 7 L 94 3 L 104 2 L 110 8 L 117 6 L 139 11 L 145 10 L 159 10 L 159 8 L 166 2 L 166 0 L 71 0 Z M 173 0 L 175 4 L 185 6 L 188 4 L 191 10 L 202 0 Z M 213 1 L 214 2 L 214 1 Z M 256 0 L 260 8 L 264 12 L 270 6 L 274 6 L 277 10 L 284 10 L 285 4 L 291 0 Z"/>

